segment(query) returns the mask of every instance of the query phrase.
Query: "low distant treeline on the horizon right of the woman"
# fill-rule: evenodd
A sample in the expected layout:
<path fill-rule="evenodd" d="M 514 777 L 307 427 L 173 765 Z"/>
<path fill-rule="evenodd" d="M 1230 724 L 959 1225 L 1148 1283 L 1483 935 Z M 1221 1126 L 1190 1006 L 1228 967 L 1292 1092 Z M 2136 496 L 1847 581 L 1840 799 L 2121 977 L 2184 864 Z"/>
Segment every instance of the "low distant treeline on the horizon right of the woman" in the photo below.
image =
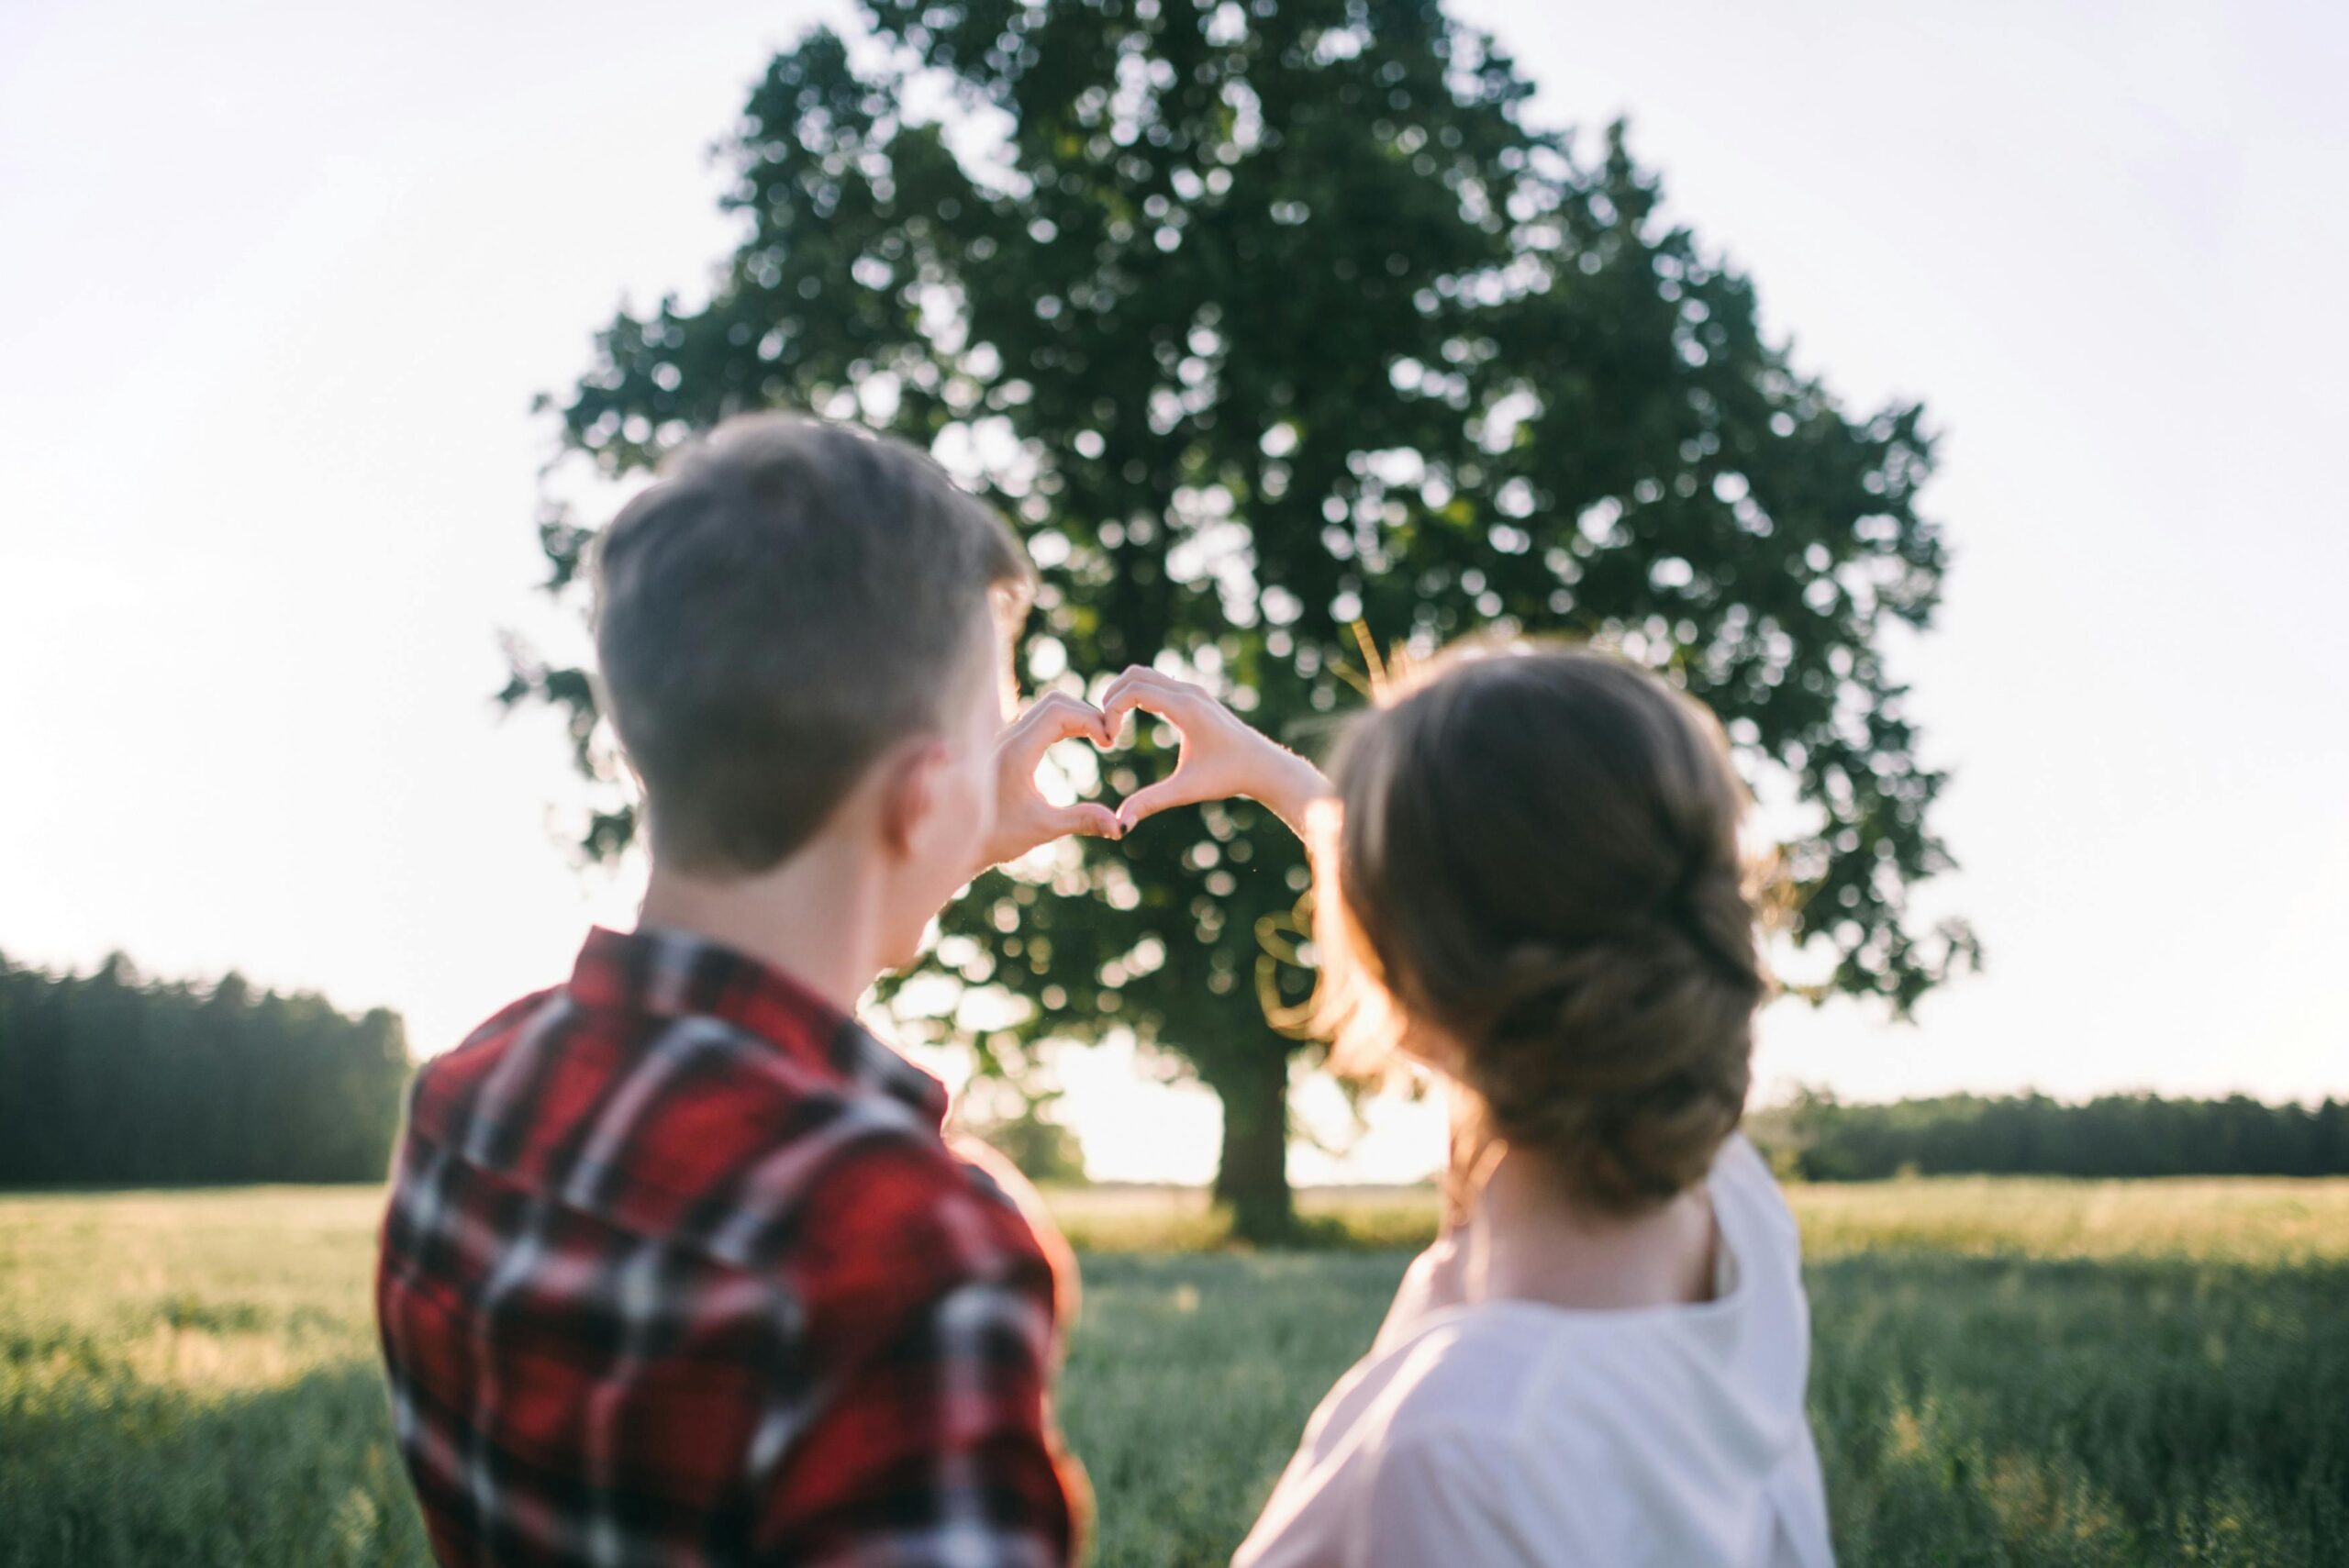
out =
<path fill-rule="evenodd" d="M 2349 1103 L 1947 1094 L 1846 1106 L 1806 1091 L 1752 1136 L 1806 1181 L 1919 1176 L 2349 1176 Z"/>

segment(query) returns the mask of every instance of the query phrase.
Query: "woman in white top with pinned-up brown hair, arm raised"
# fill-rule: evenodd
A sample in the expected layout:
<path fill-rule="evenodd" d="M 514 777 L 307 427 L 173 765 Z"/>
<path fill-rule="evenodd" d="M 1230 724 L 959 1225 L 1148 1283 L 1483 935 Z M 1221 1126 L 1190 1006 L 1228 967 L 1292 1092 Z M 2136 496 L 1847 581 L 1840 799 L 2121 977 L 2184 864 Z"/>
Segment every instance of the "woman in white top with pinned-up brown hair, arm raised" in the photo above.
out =
<path fill-rule="evenodd" d="M 1569 648 L 1388 692 L 1332 779 L 1198 688 L 1151 810 L 1308 833 L 1322 1021 L 1454 1099 L 1454 1223 L 1322 1399 L 1236 1568 L 1832 1563 L 1795 1223 L 1736 1134 L 1764 998 L 1719 725 Z"/>

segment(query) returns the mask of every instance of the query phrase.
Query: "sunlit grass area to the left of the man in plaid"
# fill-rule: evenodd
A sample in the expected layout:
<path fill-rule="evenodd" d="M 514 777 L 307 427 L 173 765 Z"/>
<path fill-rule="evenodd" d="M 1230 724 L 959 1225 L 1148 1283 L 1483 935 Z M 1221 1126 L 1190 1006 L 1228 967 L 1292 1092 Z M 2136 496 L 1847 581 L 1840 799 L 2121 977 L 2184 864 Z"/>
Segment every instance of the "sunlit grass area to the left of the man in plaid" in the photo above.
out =
<path fill-rule="evenodd" d="M 383 1188 L 0 1199 L 0 1568 L 430 1563 Z"/>

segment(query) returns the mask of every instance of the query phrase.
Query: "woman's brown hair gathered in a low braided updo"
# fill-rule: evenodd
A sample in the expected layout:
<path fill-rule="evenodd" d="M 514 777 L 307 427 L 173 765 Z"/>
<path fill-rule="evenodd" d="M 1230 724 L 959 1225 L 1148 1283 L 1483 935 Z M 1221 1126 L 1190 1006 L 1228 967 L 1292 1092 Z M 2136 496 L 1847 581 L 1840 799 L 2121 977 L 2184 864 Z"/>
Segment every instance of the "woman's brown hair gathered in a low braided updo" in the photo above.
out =
<path fill-rule="evenodd" d="M 1609 1211 L 1696 1183 L 1743 1115 L 1766 991 L 1719 723 L 1602 653 L 1463 648 L 1355 721 L 1332 779 L 1339 1066 L 1435 1059 L 1489 1136 Z"/>

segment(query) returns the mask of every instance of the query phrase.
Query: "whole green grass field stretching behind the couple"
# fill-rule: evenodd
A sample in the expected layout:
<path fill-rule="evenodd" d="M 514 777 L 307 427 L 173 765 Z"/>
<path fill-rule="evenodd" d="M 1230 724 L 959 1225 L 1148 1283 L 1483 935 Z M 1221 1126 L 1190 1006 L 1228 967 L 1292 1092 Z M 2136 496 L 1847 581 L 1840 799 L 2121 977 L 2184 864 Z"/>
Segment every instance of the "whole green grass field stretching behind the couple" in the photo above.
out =
<path fill-rule="evenodd" d="M 1797 1190 L 1846 1563 L 2349 1563 L 2349 1181 Z M 0 1568 L 423 1563 L 357 1188 L 0 1199 Z M 1308 1202 L 1379 1249 L 1212 1239 L 1064 1195 L 1064 1425 L 1104 1568 L 1219 1563 L 1369 1340 L 1426 1199 Z"/>

